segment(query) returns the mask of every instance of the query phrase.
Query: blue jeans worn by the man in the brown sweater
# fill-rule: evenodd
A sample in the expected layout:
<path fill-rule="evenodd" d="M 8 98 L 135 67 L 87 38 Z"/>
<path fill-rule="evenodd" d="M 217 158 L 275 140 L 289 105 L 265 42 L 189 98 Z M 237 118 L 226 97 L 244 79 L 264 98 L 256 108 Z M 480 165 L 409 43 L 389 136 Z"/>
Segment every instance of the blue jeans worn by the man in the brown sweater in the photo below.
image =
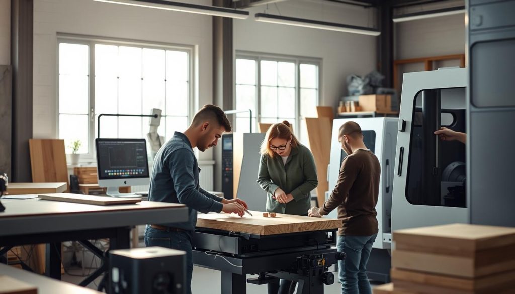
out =
<path fill-rule="evenodd" d="M 345 261 L 338 261 L 342 294 L 372 293 L 367 263 L 376 236 L 338 236 L 338 251 L 347 254 Z"/>

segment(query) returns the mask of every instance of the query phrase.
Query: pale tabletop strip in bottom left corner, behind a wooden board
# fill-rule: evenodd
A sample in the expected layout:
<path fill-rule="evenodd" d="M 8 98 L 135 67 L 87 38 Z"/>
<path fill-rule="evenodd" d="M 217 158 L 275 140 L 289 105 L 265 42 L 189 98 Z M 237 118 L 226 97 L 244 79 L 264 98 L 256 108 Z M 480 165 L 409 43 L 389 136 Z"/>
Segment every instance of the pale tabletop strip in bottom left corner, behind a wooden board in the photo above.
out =
<path fill-rule="evenodd" d="M 70 283 L 56 281 L 46 276 L 16 269 L 12 266 L 0 264 L 0 275 L 7 275 L 13 279 L 38 287 L 38 294 L 98 294 L 100 292 L 79 287 Z"/>

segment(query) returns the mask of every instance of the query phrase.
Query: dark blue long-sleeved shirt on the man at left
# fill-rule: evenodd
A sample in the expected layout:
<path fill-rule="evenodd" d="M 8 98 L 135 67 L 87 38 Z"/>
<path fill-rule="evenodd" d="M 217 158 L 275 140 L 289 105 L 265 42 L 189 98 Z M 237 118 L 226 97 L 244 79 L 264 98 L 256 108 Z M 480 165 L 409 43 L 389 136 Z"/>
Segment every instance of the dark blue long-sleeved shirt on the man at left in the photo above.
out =
<path fill-rule="evenodd" d="M 193 231 L 197 223 L 197 211 L 207 213 L 222 210 L 222 198 L 200 188 L 199 172 L 190 140 L 183 133 L 175 132 L 154 159 L 148 200 L 186 204 L 188 221 L 159 224 Z"/>

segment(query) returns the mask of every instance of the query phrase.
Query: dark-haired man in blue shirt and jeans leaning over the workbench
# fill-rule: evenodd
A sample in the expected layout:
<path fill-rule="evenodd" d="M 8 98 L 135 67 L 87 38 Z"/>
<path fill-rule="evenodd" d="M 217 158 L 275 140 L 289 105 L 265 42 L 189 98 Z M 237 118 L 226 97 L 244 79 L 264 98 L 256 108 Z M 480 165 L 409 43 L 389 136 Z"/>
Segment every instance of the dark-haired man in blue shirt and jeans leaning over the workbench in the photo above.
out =
<path fill-rule="evenodd" d="M 231 124 L 224 111 L 215 105 L 204 105 L 184 133 L 175 132 L 154 160 L 148 200 L 186 204 L 188 221 L 147 224 L 145 246 L 161 246 L 186 252 L 186 293 L 191 293 L 191 238 L 197 223 L 197 211 L 223 211 L 243 216 L 247 209 L 245 201 L 217 197 L 199 185 L 200 168 L 193 148 L 197 147 L 203 152 L 216 146 L 222 133 L 230 131 Z"/>

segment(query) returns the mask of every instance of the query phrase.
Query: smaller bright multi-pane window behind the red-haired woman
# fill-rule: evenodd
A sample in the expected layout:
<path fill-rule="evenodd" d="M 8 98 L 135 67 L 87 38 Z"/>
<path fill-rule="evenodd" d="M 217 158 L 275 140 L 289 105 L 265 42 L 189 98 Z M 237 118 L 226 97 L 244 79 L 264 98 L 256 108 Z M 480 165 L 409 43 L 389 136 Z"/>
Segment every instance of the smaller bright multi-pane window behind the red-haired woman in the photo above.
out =
<path fill-rule="evenodd" d="M 238 54 L 236 101 L 238 110 L 252 110 L 252 131 L 257 123 L 283 120 L 307 143 L 304 117 L 316 117 L 319 102 L 320 60 Z M 249 131 L 249 113 L 237 113 L 237 132 Z"/>

